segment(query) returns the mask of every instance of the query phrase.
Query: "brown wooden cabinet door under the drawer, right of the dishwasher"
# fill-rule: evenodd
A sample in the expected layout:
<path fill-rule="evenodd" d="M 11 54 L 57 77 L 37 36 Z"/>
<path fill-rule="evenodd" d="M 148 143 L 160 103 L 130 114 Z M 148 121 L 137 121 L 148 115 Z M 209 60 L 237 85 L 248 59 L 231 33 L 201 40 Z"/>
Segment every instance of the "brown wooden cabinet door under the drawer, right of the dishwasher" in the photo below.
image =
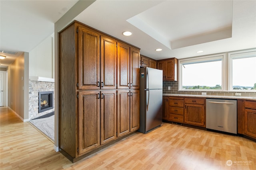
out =
<path fill-rule="evenodd" d="M 256 110 L 245 109 L 245 127 L 244 133 L 250 137 L 256 138 Z"/>

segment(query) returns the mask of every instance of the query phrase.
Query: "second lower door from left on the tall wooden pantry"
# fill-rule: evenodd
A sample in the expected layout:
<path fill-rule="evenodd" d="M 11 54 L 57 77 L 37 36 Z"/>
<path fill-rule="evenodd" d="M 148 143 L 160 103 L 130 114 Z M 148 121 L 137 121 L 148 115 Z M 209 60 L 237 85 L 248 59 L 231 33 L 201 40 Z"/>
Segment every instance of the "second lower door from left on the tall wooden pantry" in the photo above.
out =
<path fill-rule="evenodd" d="M 100 144 L 116 139 L 116 90 L 100 93 Z"/>

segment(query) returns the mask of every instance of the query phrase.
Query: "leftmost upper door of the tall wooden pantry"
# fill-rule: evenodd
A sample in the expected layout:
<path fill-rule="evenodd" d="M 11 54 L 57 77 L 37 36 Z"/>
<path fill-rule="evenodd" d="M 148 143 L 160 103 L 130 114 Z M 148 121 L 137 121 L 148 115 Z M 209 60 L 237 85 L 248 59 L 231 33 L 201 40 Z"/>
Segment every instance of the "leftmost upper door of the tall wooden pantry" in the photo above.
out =
<path fill-rule="evenodd" d="M 78 27 L 78 88 L 100 89 L 100 35 L 84 27 Z"/>

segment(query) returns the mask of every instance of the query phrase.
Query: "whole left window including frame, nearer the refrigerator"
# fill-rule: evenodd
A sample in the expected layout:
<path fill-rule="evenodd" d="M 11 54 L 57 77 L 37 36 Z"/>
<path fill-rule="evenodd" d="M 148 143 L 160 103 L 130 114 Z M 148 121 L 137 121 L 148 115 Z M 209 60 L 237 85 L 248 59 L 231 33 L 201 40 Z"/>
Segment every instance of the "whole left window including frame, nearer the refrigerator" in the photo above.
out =
<path fill-rule="evenodd" d="M 223 90 L 224 56 L 181 59 L 179 90 Z"/>

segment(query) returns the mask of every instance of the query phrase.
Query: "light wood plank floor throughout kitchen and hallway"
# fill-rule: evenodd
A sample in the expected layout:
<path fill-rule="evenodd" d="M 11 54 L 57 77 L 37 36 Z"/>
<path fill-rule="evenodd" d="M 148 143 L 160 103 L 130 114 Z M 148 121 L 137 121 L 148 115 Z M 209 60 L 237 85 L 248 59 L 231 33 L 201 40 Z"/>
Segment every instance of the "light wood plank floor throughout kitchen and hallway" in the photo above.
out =
<path fill-rule="evenodd" d="M 0 107 L 1 170 L 256 170 L 254 141 L 169 123 L 148 134 L 135 133 L 74 164 L 53 147 L 28 122 Z"/>

